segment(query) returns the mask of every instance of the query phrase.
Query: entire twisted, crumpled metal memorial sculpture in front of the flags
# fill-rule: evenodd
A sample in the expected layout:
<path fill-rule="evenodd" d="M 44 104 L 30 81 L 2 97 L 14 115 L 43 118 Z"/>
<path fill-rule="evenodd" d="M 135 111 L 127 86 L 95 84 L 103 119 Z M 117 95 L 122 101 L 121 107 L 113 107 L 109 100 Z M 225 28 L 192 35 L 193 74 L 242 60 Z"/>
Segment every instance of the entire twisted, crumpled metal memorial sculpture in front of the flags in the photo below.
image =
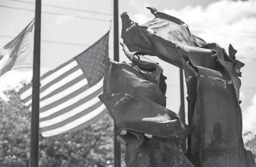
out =
<path fill-rule="evenodd" d="M 155 18 L 139 25 L 121 14 L 120 43 L 131 63 L 105 59 L 104 92 L 99 96 L 127 147 L 125 164 L 151 166 L 256 166 L 244 148 L 239 101 L 244 64 L 229 46 L 193 35 L 183 21 L 153 7 Z M 166 77 L 156 56 L 184 70 L 188 125 L 166 109 Z M 180 145 L 187 138 L 186 153 Z"/>

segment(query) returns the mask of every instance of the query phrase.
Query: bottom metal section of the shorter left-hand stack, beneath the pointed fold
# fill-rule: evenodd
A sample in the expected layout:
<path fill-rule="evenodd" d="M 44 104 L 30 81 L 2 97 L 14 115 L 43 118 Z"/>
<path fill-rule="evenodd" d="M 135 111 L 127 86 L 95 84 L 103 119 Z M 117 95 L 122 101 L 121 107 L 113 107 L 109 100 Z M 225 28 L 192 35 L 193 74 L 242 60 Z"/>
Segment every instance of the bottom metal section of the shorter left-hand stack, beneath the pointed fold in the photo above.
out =
<path fill-rule="evenodd" d="M 145 140 L 139 148 L 132 145 L 127 147 L 129 152 L 125 155 L 125 163 L 128 167 L 193 166 L 173 142 L 152 137 Z M 135 155 L 133 161 L 129 161 L 130 155 Z"/>

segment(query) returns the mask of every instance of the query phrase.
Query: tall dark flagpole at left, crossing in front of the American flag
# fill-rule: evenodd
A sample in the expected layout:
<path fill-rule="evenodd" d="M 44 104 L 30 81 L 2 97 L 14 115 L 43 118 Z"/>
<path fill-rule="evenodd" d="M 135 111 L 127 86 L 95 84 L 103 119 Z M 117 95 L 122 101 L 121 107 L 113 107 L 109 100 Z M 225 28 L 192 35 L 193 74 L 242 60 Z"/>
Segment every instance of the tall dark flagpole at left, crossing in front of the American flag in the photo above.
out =
<path fill-rule="evenodd" d="M 38 167 L 39 157 L 39 109 L 40 109 L 40 51 L 41 51 L 41 0 L 36 0 L 34 26 L 34 57 L 32 79 L 30 167 Z"/>

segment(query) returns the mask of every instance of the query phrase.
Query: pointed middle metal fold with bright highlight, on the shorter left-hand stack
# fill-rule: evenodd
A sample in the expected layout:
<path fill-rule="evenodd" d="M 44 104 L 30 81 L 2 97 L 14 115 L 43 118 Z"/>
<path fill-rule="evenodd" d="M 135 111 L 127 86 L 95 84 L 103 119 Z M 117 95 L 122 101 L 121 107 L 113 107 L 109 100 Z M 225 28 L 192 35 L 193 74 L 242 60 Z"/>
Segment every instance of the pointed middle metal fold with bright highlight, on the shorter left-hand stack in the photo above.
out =
<path fill-rule="evenodd" d="M 177 114 L 148 98 L 135 94 L 103 93 L 100 100 L 107 106 L 117 128 L 179 141 L 186 137 L 188 127 Z"/>

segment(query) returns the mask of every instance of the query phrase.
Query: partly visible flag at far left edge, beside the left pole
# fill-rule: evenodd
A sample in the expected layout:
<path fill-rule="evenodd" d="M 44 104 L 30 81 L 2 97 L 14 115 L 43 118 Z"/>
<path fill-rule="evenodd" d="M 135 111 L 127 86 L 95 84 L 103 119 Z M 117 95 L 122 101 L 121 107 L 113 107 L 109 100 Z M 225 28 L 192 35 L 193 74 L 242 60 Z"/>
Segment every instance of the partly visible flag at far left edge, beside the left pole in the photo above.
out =
<path fill-rule="evenodd" d="M 0 77 L 12 69 L 33 67 L 33 45 L 30 46 L 30 35 L 33 35 L 34 19 L 15 37 L 0 49 Z M 31 36 L 33 37 L 33 36 Z"/>

